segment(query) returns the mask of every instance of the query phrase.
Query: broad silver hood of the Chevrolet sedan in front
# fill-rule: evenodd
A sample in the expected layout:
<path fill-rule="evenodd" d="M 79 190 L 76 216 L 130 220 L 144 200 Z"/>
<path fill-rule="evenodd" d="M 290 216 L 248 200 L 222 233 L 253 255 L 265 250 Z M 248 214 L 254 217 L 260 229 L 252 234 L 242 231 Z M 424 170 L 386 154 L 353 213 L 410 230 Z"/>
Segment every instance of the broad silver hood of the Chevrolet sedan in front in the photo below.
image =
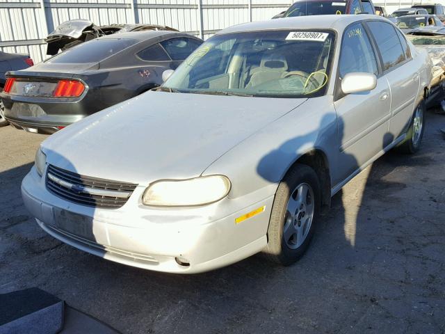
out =
<path fill-rule="evenodd" d="M 70 125 L 42 148 L 49 164 L 81 175 L 139 184 L 196 177 L 306 100 L 149 91 Z"/>

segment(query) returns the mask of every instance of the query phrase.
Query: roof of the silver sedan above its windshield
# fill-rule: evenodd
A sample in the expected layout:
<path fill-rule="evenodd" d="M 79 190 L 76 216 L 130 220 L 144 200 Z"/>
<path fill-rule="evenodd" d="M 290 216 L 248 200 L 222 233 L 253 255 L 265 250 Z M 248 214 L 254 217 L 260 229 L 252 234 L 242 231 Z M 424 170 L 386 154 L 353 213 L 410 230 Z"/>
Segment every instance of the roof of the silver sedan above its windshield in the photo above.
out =
<path fill-rule="evenodd" d="M 343 31 L 351 23 L 364 21 L 365 19 L 375 19 L 382 22 L 389 22 L 389 19 L 378 15 L 308 15 L 300 17 L 285 17 L 282 19 L 269 19 L 237 24 L 229 28 L 218 31 L 216 35 L 223 33 L 238 33 L 242 31 L 261 31 L 279 29 L 334 29 Z"/>

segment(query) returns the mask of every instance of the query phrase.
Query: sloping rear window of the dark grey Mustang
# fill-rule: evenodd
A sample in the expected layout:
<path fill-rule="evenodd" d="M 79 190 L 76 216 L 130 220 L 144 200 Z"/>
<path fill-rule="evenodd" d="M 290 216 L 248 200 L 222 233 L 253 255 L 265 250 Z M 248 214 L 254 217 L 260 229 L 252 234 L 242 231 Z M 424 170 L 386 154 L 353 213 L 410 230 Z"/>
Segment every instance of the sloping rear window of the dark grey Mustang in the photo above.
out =
<path fill-rule="evenodd" d="M 136 41 L 131 38 L 90 40 L 57 54 L 47 63 L 97 63 L 135 44 Z"/>

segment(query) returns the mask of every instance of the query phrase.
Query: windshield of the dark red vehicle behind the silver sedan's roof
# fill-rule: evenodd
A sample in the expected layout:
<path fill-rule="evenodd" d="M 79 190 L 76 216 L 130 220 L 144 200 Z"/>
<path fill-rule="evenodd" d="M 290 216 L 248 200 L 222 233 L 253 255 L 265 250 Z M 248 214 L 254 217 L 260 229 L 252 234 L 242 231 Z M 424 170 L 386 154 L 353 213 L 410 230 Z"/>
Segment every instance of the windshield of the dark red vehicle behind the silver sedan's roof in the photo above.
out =
<path fill-rule="evenodd" d="M 299 1 L 286 11 L 284 17 L 345 13 L 346 1 Z"/>

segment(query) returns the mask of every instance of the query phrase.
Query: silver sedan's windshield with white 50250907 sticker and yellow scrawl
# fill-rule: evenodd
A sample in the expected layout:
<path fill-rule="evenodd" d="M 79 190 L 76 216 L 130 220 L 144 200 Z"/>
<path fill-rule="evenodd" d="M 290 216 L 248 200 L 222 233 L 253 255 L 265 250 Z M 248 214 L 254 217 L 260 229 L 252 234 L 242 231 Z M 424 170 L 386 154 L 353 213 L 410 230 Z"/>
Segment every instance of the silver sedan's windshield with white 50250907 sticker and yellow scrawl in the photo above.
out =
<path fill-rule="evenodd" d="M 325 94 L 334 33 L 253 31 L 214 35 L 162 88 L 181 93 L 314 97 Z"/>

